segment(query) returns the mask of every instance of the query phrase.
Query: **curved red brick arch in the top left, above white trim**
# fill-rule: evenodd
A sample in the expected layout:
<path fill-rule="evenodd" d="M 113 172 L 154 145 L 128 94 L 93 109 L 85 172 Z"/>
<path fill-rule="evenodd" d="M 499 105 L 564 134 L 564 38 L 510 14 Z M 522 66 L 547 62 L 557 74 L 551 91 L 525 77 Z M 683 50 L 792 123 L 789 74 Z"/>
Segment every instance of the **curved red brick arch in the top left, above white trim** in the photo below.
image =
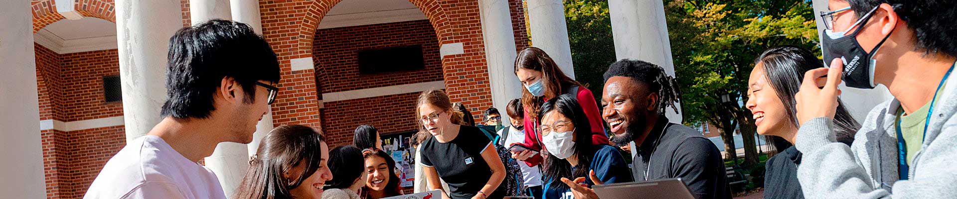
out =
<path fill-rule="evenodd" d="M 74 9 L 82 16 L 97 17 L 116 23 L 113 0 L 75 0 Z M 33 33 L 65 19 L 63 15 L 56 12 L 55 0 L 33 0 L 31 10 L 33 11 Z"/>

